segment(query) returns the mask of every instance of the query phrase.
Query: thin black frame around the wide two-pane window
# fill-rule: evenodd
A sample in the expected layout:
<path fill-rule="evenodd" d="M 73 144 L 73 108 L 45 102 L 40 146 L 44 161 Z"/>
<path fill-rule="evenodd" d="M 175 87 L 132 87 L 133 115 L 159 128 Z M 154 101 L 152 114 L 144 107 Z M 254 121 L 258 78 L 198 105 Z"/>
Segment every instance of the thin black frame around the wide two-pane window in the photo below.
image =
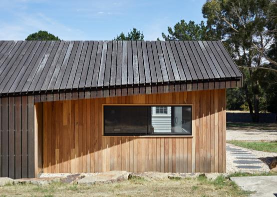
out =
<path fill-rule="evenodd" d="M 146 132 L 141 132 L 141 133 L 105 133 L 105 110 L 104 110 L 104 107 L 105 106 L 148 106 L 149 107 L 149 109 L 148 109 L 148 126 L 147 126 L 147 131 Z M 151 107 L 153 107 L 153 106 L 171 106 L 171 107 L 173 107 L 173 106 L 189 106 L 190 108 L 191 108 L 191 117 L 190 117 L 190 119 L 191 119 L 191 121 L 190 121 L 190 123 L 191 123 L 191 125 L 190 125 L 190 127 L 191 127 L 191 132 L 190 133 L 174 133 L 174 132 L 172 132 L 172 133 L 170 133 L 170 132 L 155 132 L 155 133 L 151 133 L 150 132 L 150 125 L 151 125 Z M 124 104 L 122 104 L 122 105 L 120 105 L 120 104 L 104 104 L 103 105 L 103 115 L 102 115 L 102 121 L 103 121 L 103 131 L 102 131 L 102 133 L 103 133 L 103 136 L 155 136 L 155 135 L 162 135 L 162 136 L 173 136 L 173 135 L 182 135 L 182 136 L 192 136 L 193 135 L 193 133 L 192 133 L 192 131 L 193 131 L 193 125 L 192 125 L 192 116 L 193 116 L 193 106 L 191 105 L 191 104 L 186 104 L 186 105 L 172 105 L 172 104 L 168 104 L 168 105 L 155 105 L 155 104 L 151 104 L 151 105 L 145 105 L 145 104 L 140 104 L 140 105 L 138 105 L 138 104 L 132 104 L 132 105 L 124 105 Z"/>

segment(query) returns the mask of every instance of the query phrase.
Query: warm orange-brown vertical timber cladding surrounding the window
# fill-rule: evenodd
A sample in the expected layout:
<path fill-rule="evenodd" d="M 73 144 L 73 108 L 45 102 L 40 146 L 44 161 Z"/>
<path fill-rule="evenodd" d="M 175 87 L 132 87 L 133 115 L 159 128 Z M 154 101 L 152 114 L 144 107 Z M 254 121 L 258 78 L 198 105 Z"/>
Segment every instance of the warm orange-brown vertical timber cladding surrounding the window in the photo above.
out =
<path fill-rule="evenodd" d="M 43 102 L 43 172 L 224 172 L 225 89 Z M 102 136 L 103 104 L 193 104 L 193 136 Z"/>

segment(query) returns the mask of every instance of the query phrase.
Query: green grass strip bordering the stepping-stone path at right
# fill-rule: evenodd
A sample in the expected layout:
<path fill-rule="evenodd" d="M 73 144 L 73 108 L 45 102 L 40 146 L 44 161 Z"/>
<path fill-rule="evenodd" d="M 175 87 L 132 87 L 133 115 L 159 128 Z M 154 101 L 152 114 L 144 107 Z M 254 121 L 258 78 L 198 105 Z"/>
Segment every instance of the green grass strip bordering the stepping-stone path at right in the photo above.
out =
<path fill-rule="evenodd" d="M 253 149 L 253 150 L 260 150 L 264 152 L 277 152 L 277 141 L 228 140 L 227 142 L 237 146 Z"/>

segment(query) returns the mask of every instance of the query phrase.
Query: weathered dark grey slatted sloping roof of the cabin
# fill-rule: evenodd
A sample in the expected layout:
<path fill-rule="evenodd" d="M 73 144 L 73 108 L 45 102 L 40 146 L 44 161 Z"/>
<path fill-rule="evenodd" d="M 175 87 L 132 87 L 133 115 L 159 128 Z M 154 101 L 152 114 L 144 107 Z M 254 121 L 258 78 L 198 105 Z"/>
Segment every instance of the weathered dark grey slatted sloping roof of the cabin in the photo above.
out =
<path fill-rule="evenodd" d="M 0 41 L 0 96 L 241 77 L 221 41 Z"/>

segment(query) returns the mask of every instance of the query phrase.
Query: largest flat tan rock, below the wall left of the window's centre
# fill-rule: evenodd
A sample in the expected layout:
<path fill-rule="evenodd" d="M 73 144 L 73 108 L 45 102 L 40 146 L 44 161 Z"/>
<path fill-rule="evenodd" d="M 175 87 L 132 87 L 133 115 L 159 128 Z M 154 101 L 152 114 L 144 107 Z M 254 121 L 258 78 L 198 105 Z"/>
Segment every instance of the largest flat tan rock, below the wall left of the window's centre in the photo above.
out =
<path fill-rule="evenodd" d="M 108 171 L 96 175 L 85 176 L 77 180 L 78 184 L 95 184 L 95 183 L 113 183 L 122 180 L 127 180 L 129 176 L 127 171 Z"/>

